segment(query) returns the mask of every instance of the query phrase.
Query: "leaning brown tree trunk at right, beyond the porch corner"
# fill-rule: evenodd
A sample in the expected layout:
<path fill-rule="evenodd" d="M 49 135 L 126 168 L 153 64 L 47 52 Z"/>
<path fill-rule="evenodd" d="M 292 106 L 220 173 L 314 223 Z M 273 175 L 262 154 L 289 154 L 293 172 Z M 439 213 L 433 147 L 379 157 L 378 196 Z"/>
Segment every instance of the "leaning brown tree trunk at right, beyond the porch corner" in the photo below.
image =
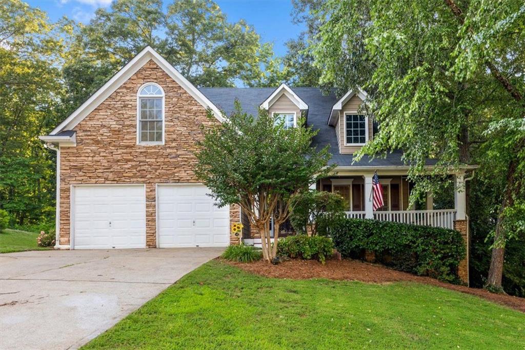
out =
<path fill-rule="evenodd" d="M 509 163 L 509 171 L 507 173 L 507 184 L 503 199 L 501 201 L 501 208 L 499 209 L 498 221 L 496 222 L 496 232 L 494 233 L 494 244 L 492 248 L 492 258 L 490 260 L 490 269 L 487 277 L 486 289 L 494 292 L 504 293 L 501 286 L 501 279 L 503 277 L 503 259 L 505 258 L 505 242 L 506 233 L 503 228 L 503 211 L 514 203 L 513 189 L 516 187 L 514 183 L 514 175 L 518 166 L 518 159 L 514 157 Z"/>

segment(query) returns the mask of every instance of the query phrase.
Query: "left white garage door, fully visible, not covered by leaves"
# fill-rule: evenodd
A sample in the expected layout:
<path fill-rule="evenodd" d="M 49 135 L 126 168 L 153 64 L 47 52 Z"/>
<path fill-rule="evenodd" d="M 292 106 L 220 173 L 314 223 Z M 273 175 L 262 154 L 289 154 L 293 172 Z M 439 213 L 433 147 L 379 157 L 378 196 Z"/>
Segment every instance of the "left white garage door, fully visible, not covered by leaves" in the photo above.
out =
<path fill-rule="evenodd" d="M 145 248 L 144 185 L 74 186 L 73 248 Z"/>

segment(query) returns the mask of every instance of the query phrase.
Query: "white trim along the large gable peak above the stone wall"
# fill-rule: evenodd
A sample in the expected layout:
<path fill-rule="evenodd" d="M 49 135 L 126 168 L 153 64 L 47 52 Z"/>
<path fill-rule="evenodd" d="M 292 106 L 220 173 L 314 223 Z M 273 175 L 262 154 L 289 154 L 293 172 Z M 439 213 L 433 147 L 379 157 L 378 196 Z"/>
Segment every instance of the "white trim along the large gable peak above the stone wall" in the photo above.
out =
<path fill-rule="evenodd" d="M 153 60 L 161 67 L 167 75 L 177 82 L 188 94 L 190 94 L 204 108 L 212 110 L 213 115 L 219 121 L 224 121 L 219 109 L 202 94 L 190 81 L 182 76 L 168 61 L 166 61 L 158 52 L 150 46 L 146 46 L 140 53 L 133 57 L 124 67 L 122 67 L 106 84 L 102 85 L 93 95 L 91 95 L 80 107 L 62 121 L 49 135 L 57 135 L 64 130 L 71 130 L 78 125 L 80 121 L 86 118 L 95 108 L 106 100 L 115 90 L 117 90 L 125 81 L 142 68 L 149 60 Z"/>

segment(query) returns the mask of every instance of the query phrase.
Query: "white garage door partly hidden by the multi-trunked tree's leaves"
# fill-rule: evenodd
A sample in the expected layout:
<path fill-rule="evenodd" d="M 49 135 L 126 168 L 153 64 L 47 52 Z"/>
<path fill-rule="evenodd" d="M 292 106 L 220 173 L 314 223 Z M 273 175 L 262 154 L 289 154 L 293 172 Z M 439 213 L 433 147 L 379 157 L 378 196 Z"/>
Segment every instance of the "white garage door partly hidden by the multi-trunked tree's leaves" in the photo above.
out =
<path fill-rule="evenodd" d="M 158 186 L 160 248 L 229 244 L 229 209 L 217 208 L 208 192 L 199 184 Z"/>

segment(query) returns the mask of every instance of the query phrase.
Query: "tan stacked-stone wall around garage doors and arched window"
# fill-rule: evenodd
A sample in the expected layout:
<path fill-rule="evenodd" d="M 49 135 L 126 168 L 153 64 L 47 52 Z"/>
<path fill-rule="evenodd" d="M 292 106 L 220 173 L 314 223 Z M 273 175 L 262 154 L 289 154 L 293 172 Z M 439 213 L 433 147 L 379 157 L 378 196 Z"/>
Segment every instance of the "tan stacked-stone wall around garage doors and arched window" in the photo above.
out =
<path fill-rule="evenodd" d="M 137 91 L 145 83 L 164 89 L 164 145 L 137 145 Z M 201 126 L 218 122 L 148 61 L 73 129 L 77 146 L 60 149 L 60 244 L 70 244 L 71 185 L 140 183 L 146 186 L 146 245 L 155 248 L 155 184 L 198 183 L 195 141 L 202 139 Z M 239 220 L 239 209 L 232 207 L 230 222 Z"/>

